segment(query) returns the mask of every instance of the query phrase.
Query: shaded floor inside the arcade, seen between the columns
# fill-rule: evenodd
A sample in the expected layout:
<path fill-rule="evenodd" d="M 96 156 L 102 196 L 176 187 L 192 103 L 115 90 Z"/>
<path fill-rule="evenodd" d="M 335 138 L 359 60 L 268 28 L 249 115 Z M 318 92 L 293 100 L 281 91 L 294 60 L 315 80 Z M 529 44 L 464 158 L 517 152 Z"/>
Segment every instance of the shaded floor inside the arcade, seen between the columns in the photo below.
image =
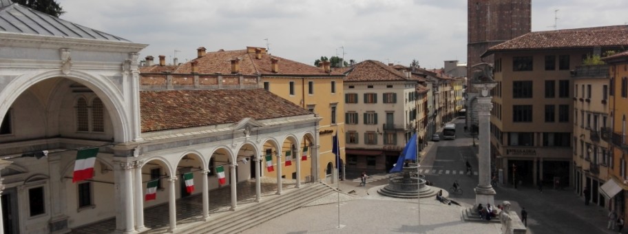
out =
<path fill-rule="evenodd" d="M 294 188 L 295 180 L 283 180 L 282 191 Z M 238 183 L 238 206 L 246 206 L 255 202 L 255 180 Z M 277 178 L 262 177 L 262 199 L 275 195 Z M 231 209 L 231 189 L 229 185 L 209 191 L 209 215 L 220 215 Z M 169 227 L 168 203 L 144 209 L 144 226 L 151 228 L 150 233 L 163 233 Z M 193 195 L 176 202 L 177 225 L 196 222 L 202 217 L 202 195 Z M 85 225 L 72 229 L 72 233 L 112 233 L 116 228 L 116 219 Z"/>

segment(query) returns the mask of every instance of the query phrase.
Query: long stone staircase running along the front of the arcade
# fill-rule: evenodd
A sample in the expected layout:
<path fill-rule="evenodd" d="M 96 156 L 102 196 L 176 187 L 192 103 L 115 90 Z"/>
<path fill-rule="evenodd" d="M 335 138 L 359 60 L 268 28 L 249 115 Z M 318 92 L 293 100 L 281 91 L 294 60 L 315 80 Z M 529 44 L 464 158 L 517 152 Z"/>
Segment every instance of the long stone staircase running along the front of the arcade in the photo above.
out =
<path fill-rule="evenodd" d="M 334 192 L 333 188 L 320 182 L 304 184 L 300 189 L 262 200 L 259 204 L 229 211 L 218 217 L 210 216 L 209 221 L 180 228 L 176 233 L 240 233 Z"/>

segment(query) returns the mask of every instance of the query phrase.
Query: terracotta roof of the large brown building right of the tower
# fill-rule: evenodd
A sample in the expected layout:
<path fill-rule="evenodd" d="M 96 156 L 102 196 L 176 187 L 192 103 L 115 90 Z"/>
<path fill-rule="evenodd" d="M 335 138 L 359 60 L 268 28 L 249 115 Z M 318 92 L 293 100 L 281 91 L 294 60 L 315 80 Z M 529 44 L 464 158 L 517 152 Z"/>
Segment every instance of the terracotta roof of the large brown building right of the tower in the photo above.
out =
<path fill-rule="evenodd" d="M 628 25 L 529 32 L 490 47 L 482 56 L 509 50 L 547 50 L 628 45 Z"/>

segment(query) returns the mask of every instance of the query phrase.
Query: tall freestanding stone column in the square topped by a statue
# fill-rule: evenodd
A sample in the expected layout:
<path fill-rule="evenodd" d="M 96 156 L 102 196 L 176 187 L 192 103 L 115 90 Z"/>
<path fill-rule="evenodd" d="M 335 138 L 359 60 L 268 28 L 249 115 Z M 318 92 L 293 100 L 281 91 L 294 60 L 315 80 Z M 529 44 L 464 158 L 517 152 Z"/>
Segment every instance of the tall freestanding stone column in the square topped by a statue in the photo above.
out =
<path fill-rule="evenodd" d="M 481 90 L 481 96 L 477 98 L 478 125 L 479 125 L 479 156 L 478 176 L 479 184 L 475 187 L 475 203 L 495 204 L 495 190 L 490 184 L 490 112 L 492 109 L 491 97 L 488 91 L 495 87 L 496 83 L 474 84 Z"/>

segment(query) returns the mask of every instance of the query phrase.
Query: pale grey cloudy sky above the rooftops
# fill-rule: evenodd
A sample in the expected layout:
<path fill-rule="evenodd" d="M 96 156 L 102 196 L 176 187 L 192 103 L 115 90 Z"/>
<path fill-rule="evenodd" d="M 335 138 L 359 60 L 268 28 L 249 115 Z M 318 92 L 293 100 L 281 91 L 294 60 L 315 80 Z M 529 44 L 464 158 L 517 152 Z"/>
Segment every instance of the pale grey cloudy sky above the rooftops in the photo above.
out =
<path fill-rule="evenodd" d="M 207 51 L 270 48 L 313 64 L 320 56 L 437 68 L 466 62 L 465 0 L 57 0 L 61 19 L 149 44 L 140 58 L 179 61 Z M 532 0 L 532 31 L 623 25 L 626 0 Z M 266 41 L 267 39 L 267 41 Z M 175 54 L 176 53 L 176 54 Z"/>

